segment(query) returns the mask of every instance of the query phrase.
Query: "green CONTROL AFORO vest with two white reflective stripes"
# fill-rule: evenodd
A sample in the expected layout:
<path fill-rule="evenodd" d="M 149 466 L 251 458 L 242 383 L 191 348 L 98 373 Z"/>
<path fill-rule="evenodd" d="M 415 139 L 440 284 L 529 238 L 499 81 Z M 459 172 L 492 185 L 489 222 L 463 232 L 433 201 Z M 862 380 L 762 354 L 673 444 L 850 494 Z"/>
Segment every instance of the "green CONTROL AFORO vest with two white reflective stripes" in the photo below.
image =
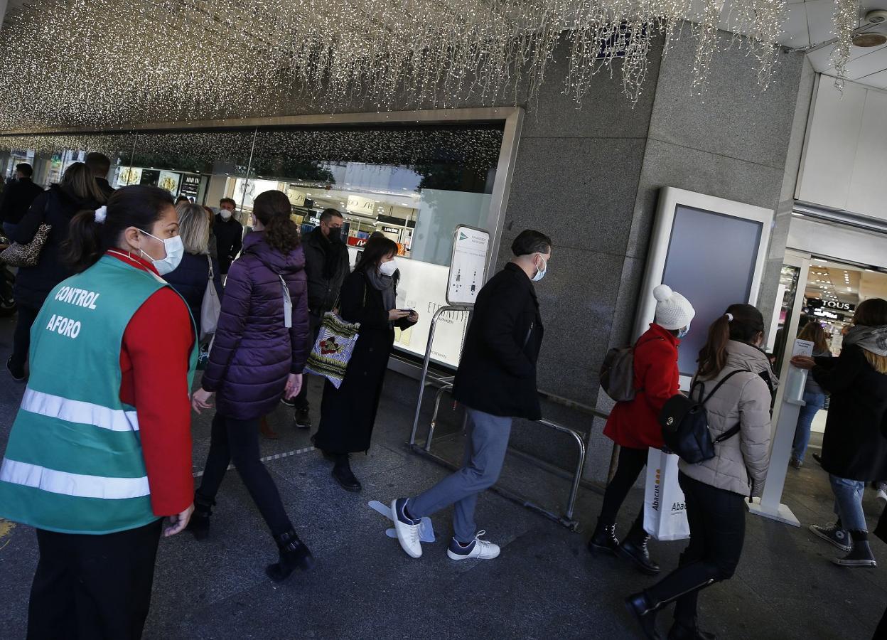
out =
<path fill-rule="evenodd" d="M 132 316 L 166 286 L 106 256 L 47 296 L 31 329 L 31 375 L 0 465 L 0 517 L 94 534 L 157 519 L 136 408 L 120 399 L 120 353 Z M 195 349 L 189 389 L 196 360 Z"/>

